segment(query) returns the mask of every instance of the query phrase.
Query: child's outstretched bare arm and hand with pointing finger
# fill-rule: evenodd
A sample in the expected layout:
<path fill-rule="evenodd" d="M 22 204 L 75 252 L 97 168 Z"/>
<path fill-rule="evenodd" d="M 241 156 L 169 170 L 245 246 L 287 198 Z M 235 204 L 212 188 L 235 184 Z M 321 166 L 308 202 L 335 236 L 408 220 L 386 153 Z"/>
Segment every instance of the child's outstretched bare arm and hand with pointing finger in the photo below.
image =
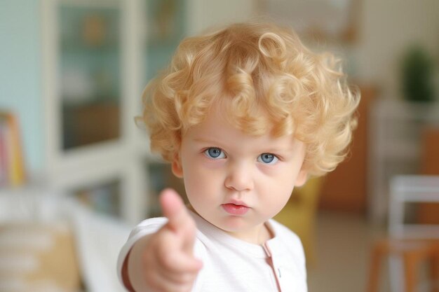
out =
<path fill-rule="evenodd" d="M 177 193 L 160 196 L 168 223 L 136 242 L 122 268 L 130 291 L 191 291 L 202 263 L 194 258 L 196 225 Z"/>

